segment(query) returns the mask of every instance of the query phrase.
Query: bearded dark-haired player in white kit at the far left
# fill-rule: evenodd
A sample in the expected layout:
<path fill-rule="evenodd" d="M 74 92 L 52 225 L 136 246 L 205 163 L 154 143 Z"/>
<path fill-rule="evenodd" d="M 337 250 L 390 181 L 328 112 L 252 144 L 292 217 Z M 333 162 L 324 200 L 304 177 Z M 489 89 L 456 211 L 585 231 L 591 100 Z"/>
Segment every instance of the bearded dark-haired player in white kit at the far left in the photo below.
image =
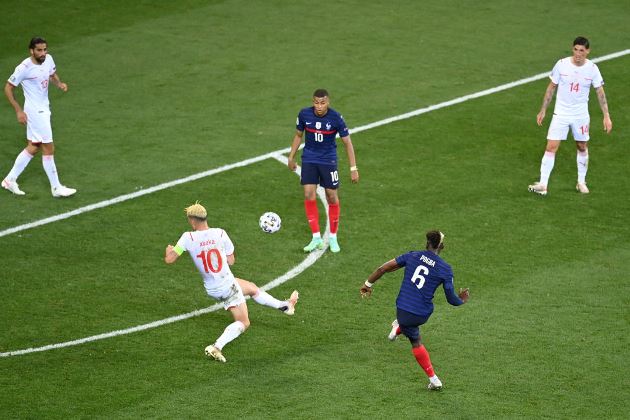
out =
<path fill-rule="evenodd" d="M 4 94 L 13 109 L 20 124 L 26 125 L 27 145 L 15 159 L 15 164 L 9 174 L 2 180 L 2 187 L 13 194 L 24 195 L 20 190 L 17 179 L 26 169 L 33 156 L 42 149 L 42 164 L 50 181 L 53 197 L 69 197 L 77 192 L 74 188 L 61 185 L 55 166 L 55 146 L 50 126 L 50 105 L 48 101 L 48 84 L 52 81 L 64 92 L 68 85 L 63 83 L 57 75 L 55 61 L 48 54 L 48 44 L 45 39 L 33 38 L 29 44 L 30 57 L 15 68 L 15 71 L 4 86 Z M 24 109 L 15 100 L 13 91 L 22 85 L 24 91 Z"/>

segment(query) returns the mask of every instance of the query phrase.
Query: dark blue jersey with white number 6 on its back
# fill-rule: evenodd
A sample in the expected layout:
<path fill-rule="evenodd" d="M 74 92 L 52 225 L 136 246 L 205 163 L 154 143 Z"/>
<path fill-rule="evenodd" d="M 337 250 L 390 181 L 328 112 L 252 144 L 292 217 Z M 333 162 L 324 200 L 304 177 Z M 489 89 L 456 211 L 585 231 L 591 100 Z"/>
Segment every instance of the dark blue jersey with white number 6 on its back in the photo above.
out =
<path fill-rule="evenodd" d="M 399 309 L 428 318 L 433 313 L 433 295 L 440 284 L 447 299 L 454 295 L 453 270 L 439 255 L 411 251 L 396 257 L 396 263 L 405 269 L 396 299 Z"/>

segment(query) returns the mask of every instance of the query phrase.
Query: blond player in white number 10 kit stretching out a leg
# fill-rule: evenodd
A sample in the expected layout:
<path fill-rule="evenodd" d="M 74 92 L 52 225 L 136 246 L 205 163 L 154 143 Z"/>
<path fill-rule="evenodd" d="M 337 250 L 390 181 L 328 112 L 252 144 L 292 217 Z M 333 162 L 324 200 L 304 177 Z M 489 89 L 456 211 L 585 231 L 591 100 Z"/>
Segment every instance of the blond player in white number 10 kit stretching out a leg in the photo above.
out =
<path fill-rule="evenodd" d="M 230 265 L 234 264 L 234 244 L 227 232 L 208 226 L 208 212 L 199 202 L 185 209 L 192 232 L 185 232 L 177 245 L 168 245 L 164 261 L 172 264 L 184 251 L 188 251 L 195 266 L 201 273 L 206 292 L 223 304 L 232 313 L 234 322 L 228 325 L 223 334 L 206 347 L 206 355 L 220 362 L 226 361 L 223 347 L 237 338 L 249 327 L 249 315 L 245 296 L 257 303 L 281 310 L 287 315 L 295 313 L 299 295 L 297 290 L 286 301 L 280 301 L 254 283 L 234 277 Z"/>

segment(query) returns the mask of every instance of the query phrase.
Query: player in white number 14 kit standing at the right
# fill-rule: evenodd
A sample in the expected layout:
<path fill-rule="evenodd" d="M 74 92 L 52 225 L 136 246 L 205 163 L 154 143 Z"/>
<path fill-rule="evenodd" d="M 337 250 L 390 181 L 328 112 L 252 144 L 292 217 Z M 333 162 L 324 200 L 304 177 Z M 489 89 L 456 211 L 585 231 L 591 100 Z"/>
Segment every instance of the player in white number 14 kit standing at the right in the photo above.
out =
<path fill-rule="evenodd" d="M 591 86 L 597 93 L 599 106 L 604 114 L 604 131 L 610 133 L 612 121 L 608 113 L 608 103 L 604 93 L 604 80 L 597 65 L 587 59 L 590 52 L 588 39 L 577 37 L 573 41 L 573 55 L 558 60 L 549 78 L 543 104 L 536 117 L 538 125 L 542 125 L 547 107 L 553 94 L 558 89 L 553 118 L 547 133 L 547 147 L 540 164 L 540 180 L 528 187 L 528 190 L 547 195 L 547 184 L 556 159 L 560 142 L 567 139 L 569 129 L 577 146 L 577 184 L 576 189 L 588 194 L 586 171 L 588 169 L 588 140 L 590 117 L 588 114 L 588 94 Z"/>

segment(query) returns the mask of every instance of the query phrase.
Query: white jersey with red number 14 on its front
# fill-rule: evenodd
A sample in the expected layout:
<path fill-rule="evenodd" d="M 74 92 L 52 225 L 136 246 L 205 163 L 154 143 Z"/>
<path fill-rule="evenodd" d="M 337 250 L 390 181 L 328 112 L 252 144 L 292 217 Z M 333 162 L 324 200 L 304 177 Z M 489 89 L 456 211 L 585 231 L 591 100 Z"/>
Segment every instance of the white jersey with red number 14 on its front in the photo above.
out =
<path fill-rule="evenodd" d="M 587 59 L 581 66 L 576 66 L 571 57 L 558 60 L 549 78 L 558 85 L 553 113 L 563 117 L 588 117 L 591 86 L 597 89 L 604 84 L 595 63 Z"/>

